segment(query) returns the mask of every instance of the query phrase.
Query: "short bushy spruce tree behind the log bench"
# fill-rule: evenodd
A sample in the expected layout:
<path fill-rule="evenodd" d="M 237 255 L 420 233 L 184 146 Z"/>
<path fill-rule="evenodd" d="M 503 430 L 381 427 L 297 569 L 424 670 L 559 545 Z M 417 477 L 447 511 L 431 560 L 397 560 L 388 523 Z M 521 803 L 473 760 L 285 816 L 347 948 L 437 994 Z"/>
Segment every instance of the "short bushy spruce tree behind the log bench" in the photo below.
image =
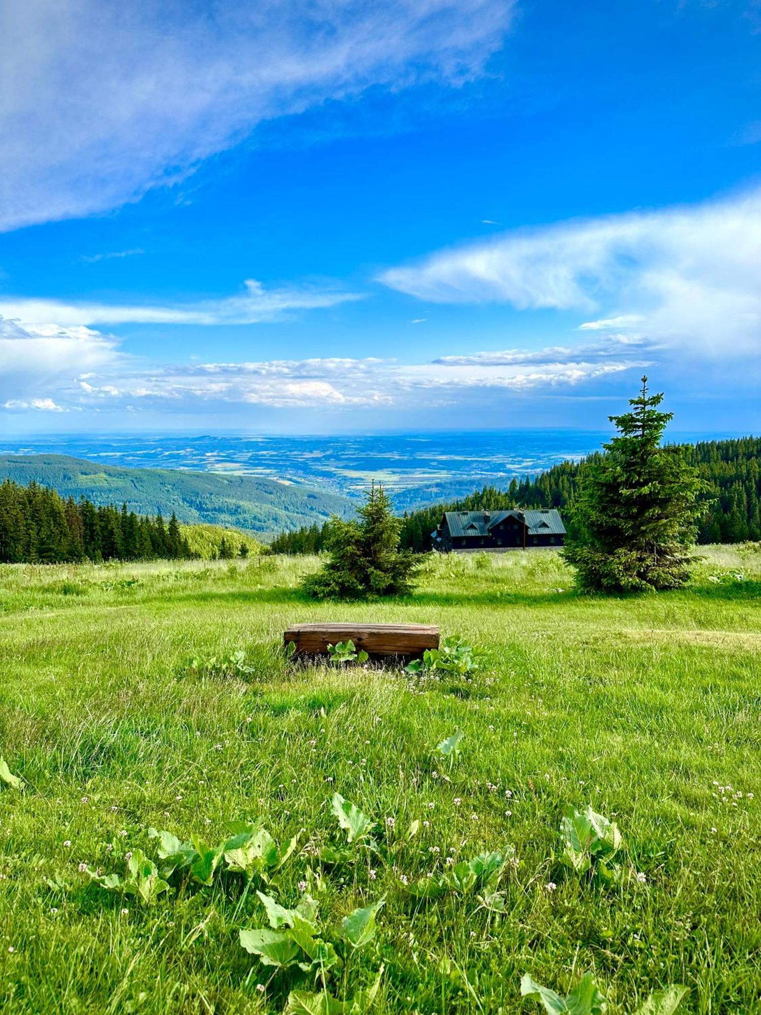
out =
<path fill-rule="evenodd" d="M 411 591 L 415 558 L 400 548 L 402 520 L 392 514 L 383 486 L 372 484 L 357 515 L 356 521 L 332 520 L 330 560 L 302 585 L 315 599 L 376 599 Z"/>

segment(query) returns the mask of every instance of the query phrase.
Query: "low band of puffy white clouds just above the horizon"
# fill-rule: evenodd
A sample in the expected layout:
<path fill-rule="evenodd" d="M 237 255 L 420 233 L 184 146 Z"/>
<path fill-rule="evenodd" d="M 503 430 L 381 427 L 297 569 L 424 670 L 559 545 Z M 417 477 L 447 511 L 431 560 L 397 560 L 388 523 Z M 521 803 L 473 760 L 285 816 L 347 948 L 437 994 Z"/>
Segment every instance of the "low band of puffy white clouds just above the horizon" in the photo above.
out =
<path fill-rule="evenodd" d="M 603 336 L 540 350 L 441 356 L 429 362 L 343 356 L 245 362 L 148 362 L 83 326 L 0 319 L 0 406 L 9 411 L 160 409 L 233 405 L 346 410 L 473 401 L 479 392 L 558 391 L 646 366 L 644 344 Z"/>

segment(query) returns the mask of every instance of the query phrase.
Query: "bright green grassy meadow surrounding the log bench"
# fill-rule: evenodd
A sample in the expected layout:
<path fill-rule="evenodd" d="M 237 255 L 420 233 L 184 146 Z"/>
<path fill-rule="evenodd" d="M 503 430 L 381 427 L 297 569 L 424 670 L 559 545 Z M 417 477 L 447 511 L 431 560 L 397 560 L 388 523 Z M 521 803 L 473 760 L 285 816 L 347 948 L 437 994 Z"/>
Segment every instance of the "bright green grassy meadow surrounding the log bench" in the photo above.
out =
<path fill-rule="evenodd" d="M 261 816 L 303 829 L 267 889 L 284 906 L 307 882 L 335 929 L 386 899 L 339 998 L 383 964 L 378 1013 L 538 1011 L 523 973 L 564 994 L 593 970 L 616 1015 L 669 984 L 680 1012 L 761 1011 L 761 553 L 702 552 L 658 596 L 580 597 L 547 551 L 439 557 L 359 606 L 304 601 L 306 558 L 0 567 L 0 753 L 23 781 L 0 786 L 0 1010 L 282 1011 L 298 969 L 240 947 L 267 926 L 244 878 L 141 905 L 79 869 L 155 859 L 150 826 L 215 845 Z M 485 657 L 428 681 L 287 661 L 282 630 L 321 618 L 438 623 Z M 449 770 L 432 750 L 456 730 Z M 335 792 L 376 852 L 338 849 Z M 615 818 L 620 883 L 560 865 L 567 804 Z M 493 897 L 409 892 L 508 847 Z"/>

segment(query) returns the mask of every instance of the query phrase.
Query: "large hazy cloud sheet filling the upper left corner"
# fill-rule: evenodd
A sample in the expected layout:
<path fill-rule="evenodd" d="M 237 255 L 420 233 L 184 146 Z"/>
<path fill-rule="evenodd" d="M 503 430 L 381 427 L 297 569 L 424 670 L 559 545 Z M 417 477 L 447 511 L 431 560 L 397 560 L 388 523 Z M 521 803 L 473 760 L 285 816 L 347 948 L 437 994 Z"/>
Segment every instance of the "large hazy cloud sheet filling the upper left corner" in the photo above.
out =
<path fill-rule="evenodd" d="M 478 74 L 512 3 L 2 4 L 0 230 L 117 207 L 328 98 Z"/>

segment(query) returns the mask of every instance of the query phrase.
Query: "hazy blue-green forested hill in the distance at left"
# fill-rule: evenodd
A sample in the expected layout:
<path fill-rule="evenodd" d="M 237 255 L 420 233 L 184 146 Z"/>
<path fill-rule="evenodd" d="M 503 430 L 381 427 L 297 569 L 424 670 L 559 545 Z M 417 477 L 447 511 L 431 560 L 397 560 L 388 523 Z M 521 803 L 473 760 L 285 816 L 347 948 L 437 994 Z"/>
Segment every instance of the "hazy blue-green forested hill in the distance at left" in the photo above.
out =
<path fill-rule="evenodd" d="M 130 469 L 65 455 L 2 455 L 0 480 L 32 480 L 62 496 L 86 496 L 95 504 L 127 503 L 138 515 L 172 512 L 180 522 L 231 526 L 260 536 L 346 518 L 353 501 L 294 483 L 255 476 L 172 469 Z"/>

